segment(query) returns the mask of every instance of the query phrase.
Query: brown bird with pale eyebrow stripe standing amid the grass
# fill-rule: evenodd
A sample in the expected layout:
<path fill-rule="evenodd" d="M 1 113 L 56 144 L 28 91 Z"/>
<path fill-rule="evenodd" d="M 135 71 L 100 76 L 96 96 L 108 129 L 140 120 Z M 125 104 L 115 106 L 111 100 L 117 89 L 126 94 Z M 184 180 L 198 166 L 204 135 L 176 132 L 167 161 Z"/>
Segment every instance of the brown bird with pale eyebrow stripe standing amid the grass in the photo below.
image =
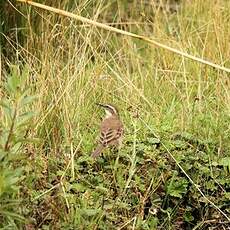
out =
<path fill-rule="evenodd" d="M 108 146 L 120 146 L 124 134 L 124 126 L 117 108 L 111 104 L 97 105 L 105 109 L 105 117 L 100 125 L 99 143 L 91 154 L 92 158 L 97 158 Z"/>

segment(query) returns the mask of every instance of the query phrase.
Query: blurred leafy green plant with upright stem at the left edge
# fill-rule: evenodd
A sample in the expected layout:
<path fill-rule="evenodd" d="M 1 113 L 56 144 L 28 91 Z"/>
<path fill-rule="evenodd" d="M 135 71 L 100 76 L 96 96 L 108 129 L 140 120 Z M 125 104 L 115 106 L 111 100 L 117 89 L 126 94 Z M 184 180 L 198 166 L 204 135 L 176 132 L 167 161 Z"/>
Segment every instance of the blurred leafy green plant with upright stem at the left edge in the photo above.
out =
<path fill-rule="evenodd" d="M 15 227 L 23 221 L 20 215 L 20 181 L 23 179 L 25 166 L 25 144 L 31 140 L 28 132 L 34 112 L 30 104 L 35 99 L 30 96 L 26 85 L 27 69 L 22 73 L 16 66 L 11 67 L 7 76 L 1 99 L 0 120 L 0 226 Z"/>

